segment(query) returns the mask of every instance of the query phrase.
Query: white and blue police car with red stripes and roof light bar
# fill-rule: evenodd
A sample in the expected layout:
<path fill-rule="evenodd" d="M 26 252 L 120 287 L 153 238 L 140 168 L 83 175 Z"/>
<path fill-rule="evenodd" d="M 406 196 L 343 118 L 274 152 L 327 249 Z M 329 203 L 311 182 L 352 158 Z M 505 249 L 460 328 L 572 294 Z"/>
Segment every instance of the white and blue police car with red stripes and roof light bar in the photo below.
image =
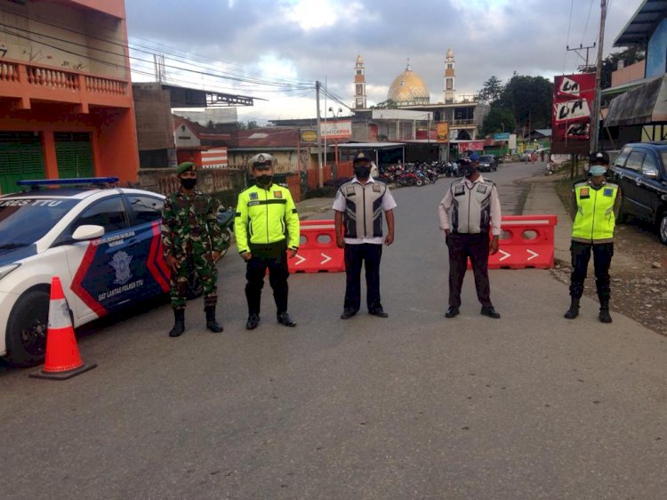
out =
<path fill-rule="evenodd" d="M 165 197 L 115 182 L 19 181 L 28 191 L 0 196 L 0 356 L 13 365 L 44 359 L 53 276 L 74 327 L 169 290 Z"/>

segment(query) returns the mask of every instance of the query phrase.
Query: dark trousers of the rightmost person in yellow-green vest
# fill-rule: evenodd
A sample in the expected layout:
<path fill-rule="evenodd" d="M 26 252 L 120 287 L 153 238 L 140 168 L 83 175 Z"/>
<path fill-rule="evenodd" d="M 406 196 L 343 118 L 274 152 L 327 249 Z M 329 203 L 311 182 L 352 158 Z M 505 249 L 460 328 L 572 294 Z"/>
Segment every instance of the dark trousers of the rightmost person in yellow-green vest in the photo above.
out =
<path fill-rule="evenodd" d="M 592 244 L 572 241 L 570 244 L 570 253 L 572 255 L 572 275 L 570 279 L 570 295 L 572 298 L 582 298 L 583 281 L 586 279 L 588 262 L 591 260 L 592 253 L 598 298 L 600 302 L 608 302 L 611 296 L 609 266 L 614 256 L 614 243 Z"/>

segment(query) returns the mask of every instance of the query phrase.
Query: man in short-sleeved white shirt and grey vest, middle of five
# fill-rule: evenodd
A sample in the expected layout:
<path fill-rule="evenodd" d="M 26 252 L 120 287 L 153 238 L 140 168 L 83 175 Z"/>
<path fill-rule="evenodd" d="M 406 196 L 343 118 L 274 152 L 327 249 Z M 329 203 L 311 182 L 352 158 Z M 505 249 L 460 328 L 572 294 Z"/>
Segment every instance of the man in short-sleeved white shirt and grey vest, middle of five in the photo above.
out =
<path fill-rule="evenodd" d="M 361 267 L 366 267 L 366 305 L 378 318 L 389 315 L 380 301 L 382 243 L 394 241 L 396 201 L 382 181 L 371 176 L 371 158 L 359 152 L 354 158 L 355 176 L 343 182 L 333 201 L 336 244 L 345 249 L 345 302 L 341 319 L 350 319 L 361 307 Z M 387 217 L 387 236 L 382 237 L 382 213 Z"/>

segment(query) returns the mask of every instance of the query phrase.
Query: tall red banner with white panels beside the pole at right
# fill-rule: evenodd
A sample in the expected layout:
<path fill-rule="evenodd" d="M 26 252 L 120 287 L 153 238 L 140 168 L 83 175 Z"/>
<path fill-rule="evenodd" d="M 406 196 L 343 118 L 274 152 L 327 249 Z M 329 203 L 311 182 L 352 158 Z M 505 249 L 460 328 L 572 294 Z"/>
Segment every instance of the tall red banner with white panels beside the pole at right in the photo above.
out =
<path fill-rule="evenodd" d="M 551 152 L 588 154 L 595 73 L 554 77 L 551 113 Z"/>

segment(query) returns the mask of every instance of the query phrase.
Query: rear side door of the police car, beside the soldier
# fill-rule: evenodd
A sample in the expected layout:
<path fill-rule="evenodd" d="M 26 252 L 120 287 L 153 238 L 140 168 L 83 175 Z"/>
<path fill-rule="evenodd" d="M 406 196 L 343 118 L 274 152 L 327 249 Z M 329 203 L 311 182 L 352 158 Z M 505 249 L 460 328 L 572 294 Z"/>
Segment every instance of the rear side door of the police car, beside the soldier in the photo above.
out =
<path fill-rule="evenodd" d="M 137 270 L 144 286 L 141 292 L 145 298 L 165 294 L 169 291 L 169 270 L 162 251 L 162 208 L 165 200 L 143 193 L 127 193 L 125 201 L 129 207 L 130 222 L 136 238 L 133 258 L 144 262 L 142 270 Z"/>

